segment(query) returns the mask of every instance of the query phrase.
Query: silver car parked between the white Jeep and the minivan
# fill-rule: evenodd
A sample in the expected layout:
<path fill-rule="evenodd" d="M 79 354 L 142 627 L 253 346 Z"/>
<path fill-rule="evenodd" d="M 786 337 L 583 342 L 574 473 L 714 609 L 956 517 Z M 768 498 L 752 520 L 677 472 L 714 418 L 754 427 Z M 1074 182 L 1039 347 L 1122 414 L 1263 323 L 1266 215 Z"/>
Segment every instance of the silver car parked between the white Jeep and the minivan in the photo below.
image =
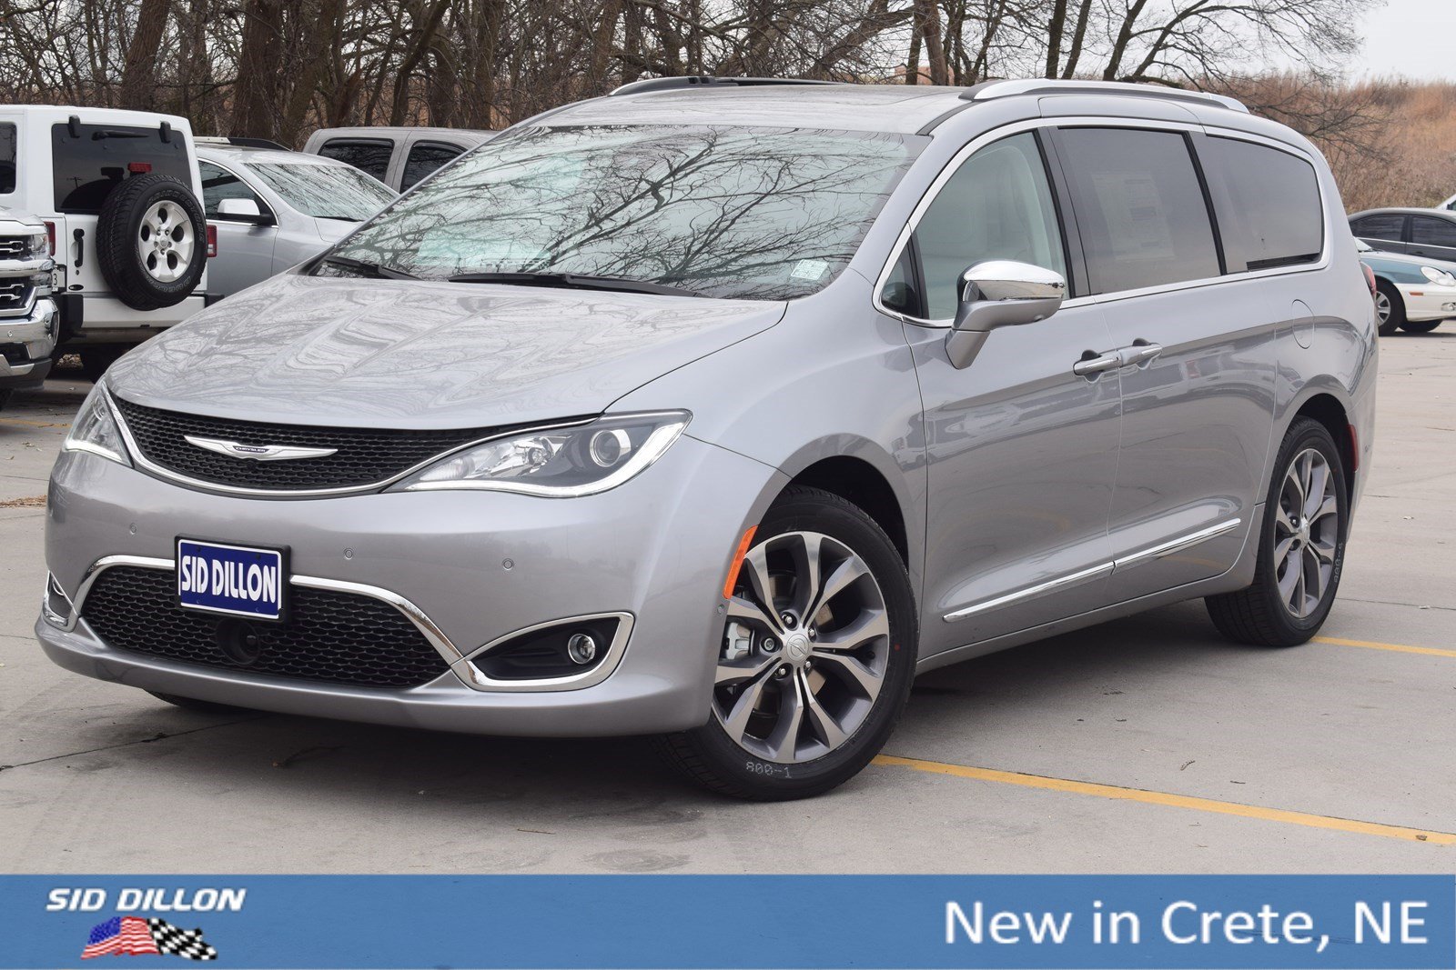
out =
<path fill-rule="evenodd" d="M 298 151 L 198 138 L 197 159 L 217 231 L 208 279 L 218 297 L 317 256 L 399 195 L 354 166 Z"/>

